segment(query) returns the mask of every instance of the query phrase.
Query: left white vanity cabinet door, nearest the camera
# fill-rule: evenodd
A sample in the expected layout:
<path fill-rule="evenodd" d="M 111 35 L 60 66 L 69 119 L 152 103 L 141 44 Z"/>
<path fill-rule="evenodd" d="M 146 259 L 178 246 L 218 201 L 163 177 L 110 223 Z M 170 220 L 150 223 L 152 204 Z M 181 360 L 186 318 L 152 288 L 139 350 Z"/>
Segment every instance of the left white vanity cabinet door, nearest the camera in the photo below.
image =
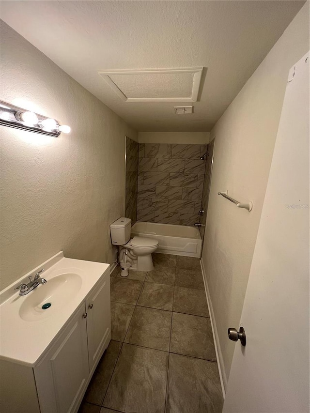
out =
<path fill-rule="evenodd" d="M 34 367 L 41 413 L 77 410 L 89 377 L 85 303 L 78 307 L 43 360 Z"/>

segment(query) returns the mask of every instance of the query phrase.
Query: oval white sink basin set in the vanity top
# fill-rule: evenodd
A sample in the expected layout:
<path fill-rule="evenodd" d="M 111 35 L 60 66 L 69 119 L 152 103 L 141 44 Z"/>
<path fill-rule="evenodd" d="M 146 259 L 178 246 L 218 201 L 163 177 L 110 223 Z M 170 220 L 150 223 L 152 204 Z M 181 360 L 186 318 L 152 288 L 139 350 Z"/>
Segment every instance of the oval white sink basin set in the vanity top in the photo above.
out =
<path fill-rule="evenodd" d="M 24 296 L 19 316 L 25 321 L 40 321 L 61 311 L 75 297 L 82 285 L 78 274 L 61 274 L 39 285 Z M 43 309 L 44 304 L 51 304 Z"/>

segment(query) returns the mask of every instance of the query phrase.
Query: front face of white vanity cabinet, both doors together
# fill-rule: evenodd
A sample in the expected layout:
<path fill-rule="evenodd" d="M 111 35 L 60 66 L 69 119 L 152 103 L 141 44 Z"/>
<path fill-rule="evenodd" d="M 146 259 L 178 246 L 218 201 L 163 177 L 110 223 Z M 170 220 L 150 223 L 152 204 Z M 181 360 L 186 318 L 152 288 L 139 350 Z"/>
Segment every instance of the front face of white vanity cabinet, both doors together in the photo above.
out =
<path fill-rule="evenodd" d="M 34 367 L 41 413 L 77 412 L 111 338 L 109 280 L 109 273 L 100 279 Z"/>

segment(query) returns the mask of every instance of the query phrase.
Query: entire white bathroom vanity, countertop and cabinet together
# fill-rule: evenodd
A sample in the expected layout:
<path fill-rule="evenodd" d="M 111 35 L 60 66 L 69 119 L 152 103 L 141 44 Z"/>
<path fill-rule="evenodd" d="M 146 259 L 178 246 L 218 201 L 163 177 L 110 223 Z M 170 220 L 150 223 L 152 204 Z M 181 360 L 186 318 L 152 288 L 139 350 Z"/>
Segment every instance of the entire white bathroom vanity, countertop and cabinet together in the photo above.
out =
<path fill-rule="evenodd" d="M 1 291 L 1 412 L 78 411 L 111 338 L 109 267 L 59 252 Z M 47 282 L 14 290 L 42 268 Z"/>

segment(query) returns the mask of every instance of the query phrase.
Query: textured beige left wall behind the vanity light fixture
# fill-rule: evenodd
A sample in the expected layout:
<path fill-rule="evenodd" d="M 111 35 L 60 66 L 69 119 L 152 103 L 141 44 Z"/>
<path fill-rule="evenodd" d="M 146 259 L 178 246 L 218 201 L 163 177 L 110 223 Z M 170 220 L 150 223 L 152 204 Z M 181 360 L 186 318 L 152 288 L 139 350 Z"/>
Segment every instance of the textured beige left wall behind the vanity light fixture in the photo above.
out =
<path fill-rule="evenodd" d="M 69 124 L 59 138 L 0 126 L 1 288 L 60 250 L 113 262 L 124 214 L 124 136 L 138 134 L 1 22 L 1 100 Z"/>

